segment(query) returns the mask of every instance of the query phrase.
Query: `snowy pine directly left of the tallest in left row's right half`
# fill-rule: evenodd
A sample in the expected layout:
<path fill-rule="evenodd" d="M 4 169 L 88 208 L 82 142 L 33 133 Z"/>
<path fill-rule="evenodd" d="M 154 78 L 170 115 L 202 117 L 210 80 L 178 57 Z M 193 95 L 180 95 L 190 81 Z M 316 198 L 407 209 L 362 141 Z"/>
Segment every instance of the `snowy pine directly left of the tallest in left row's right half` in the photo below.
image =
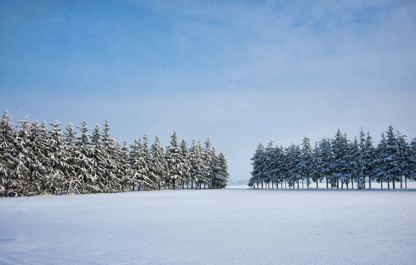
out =
<path fill-rule="evenodd" d="M 166 163 L 166 153 L 158 135 L 156 135 L 155 142 L 151 146 L 151 154 L 153 158 L 151 170 L 155 175 L 155 186 L 157 186 L 160 190 L 160 187 L 165 184 L 164 180 L 166 178 L 168 168 Z"/>

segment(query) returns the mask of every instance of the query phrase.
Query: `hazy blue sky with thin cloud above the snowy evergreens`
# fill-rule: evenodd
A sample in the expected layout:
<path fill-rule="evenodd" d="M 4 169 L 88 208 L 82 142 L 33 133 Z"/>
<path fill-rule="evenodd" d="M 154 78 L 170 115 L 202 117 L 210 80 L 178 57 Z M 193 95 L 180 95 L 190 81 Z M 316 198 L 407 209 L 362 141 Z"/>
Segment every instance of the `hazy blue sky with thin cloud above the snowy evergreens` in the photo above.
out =
<path fill-rule="evenodd" d="M 233 181 L 258 142 L 416 137 L 416 2 L 0 1 L 0 108 L 117 140 L 211 137 Z M 16 109 L 17 108 L 17 109 Z"/>

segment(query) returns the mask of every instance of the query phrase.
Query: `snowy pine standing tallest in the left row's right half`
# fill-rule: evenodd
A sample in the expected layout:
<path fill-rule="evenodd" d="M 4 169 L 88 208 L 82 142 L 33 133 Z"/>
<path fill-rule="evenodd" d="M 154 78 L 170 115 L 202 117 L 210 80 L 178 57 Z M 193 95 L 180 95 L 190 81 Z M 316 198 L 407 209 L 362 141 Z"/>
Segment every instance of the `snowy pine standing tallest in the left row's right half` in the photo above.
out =
<path fill-rule="evenodd" d="M 175 189 L 178 183 L 182 181 L 182 150 L 178 143 L 178 133 L 173 130 L 171 136 L 171 145 L 166 147 L 166 162 L 168 163 L 168 187 L 172 182 L 172 187 Z"/>

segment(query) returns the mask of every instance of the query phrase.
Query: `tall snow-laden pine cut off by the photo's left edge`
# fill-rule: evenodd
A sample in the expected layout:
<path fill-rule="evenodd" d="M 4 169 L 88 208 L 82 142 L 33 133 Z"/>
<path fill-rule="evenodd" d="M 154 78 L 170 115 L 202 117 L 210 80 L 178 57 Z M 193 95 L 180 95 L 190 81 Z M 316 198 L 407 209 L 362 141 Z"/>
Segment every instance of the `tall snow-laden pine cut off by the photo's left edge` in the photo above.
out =
<path fill-rule="evenodd" d="M 8 196 L 16 164 L 15 125 L 12 116 L 4 110 L 0 120 L 0 194 Z"/>

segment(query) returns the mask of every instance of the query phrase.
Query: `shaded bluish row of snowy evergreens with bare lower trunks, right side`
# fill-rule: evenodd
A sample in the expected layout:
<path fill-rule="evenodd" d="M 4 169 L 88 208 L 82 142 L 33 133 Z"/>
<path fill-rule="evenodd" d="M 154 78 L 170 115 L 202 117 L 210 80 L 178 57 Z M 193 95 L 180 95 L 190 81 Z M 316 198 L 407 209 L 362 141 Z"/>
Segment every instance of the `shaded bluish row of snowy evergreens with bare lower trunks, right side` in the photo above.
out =
<path fill-rule="evenodd" d="M 409 142 L 407 136 L 399 130 L 394 132 L 394 127 L 389 126 L 386 132 L 381 134 L 379 144 L 374 147 L 370 132 L 365 134 L 361 128 L 359 140 L 357 137 L 354 141 L 348 140 L 348 135 L 341 132 L 338 128 L 334 139 L 323 138 L 315 142 L 312 147 L 311 141 L 307 135 L 302 142 L 302 147 L 292 143 L 289 147 L 283 145 L 274 147 L 273 140 L 267 147 L 262 142 L 257 146 L 253 160 L 253 172 L 249 181 L 249 186 L 257 187 L 263 183 L 266 185 L 272 183 L 272 188 L 280 184 L 283 188 L 283 182 L 288 183 L 289 187 L 299 189 L 299 182 L 304 180 L 309 188 L 310 179 L 322 183 L 326 179 L 327 189 L 332 187 L 344 188 L 351 183 L 354 188 L 354 182 L 357 182 L 359 189 L 365 189 L 365 182 L 368 179 L 369 188 L 371 181 L 381 183 L 387 182 L 387 188 L 390 189 L 390 182 L 395 188 L 395 182 L 400 182 L 400 188 L 403 188 L 403 179 L 407 189 L 407 179 L 416 180 L 416 138 Z M 341 186 L 339 185 L 341 182 Z"/>

